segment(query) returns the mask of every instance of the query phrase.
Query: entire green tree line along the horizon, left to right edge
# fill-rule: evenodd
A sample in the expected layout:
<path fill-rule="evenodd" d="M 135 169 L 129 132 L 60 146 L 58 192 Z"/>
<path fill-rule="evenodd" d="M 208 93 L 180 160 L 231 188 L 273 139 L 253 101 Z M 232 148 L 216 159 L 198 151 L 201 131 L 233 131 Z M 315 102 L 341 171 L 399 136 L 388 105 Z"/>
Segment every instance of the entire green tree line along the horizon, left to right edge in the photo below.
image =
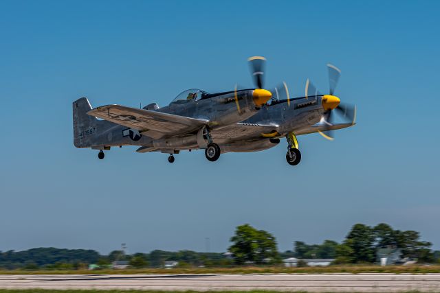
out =
<path fill-rule="evenodd" d="M 116 260 L 129 261 L 133 268 L 160 268 L 165 261 L 178 261 L 179 266 L 276 265 L 288 257 L 335 259 L 333 263 L 375 263 L 380 248 L 400 248 L 402 257 L 419 263 L 440 263 L 440 251 L 431 250 L 432 244 L 422 241 L 419 232 L 395 230 L 384 223 L 376 226 L 355 224 L 340 243 L 328 239 L 322 244 L 295 241 L 293 249 L 285 252 L 278 252 L 274 235 L 250 224 L 237 226 L 230 242 L 228 254 L 197 253 L 192 250 L 153 250 L 133 255 L 126 255 L 122 250 L 113 250 L 109 255 L 85 249 L 8 250 L 0 252 L 0 268 L 74 270 L 85 269 L 91 263 L 104 267 Z"/>

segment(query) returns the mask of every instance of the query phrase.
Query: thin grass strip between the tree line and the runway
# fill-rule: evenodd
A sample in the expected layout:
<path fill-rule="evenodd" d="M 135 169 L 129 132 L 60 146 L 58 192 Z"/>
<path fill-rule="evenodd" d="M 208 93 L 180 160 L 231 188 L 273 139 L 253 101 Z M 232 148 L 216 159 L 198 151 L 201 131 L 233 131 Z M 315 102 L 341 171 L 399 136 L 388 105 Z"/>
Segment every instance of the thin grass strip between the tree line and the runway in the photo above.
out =
<path fill-rule="evenodd" d="M 144 268 L 127 270 L 0 270 L 0 274 L 319 274 L 366 272 L 395 274 L 440 273 L 440 266 L 327 266 L 285 268 L 283 266 L 242 266 L 234 268 Z M 1 293 L 1 292 L 0 292 Z"/>

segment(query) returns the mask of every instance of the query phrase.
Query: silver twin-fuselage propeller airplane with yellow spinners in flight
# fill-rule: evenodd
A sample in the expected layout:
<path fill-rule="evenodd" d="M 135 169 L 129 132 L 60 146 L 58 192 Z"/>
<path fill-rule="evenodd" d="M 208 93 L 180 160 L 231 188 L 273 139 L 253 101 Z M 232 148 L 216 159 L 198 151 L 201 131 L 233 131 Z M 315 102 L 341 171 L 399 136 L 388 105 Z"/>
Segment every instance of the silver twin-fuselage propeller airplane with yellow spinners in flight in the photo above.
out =
<path fill-rule="evenodd" d="M 137 152 L 166 153 L 173 163 L 173 154 L 183 150 L 204 149 L 206 159 L 217 161 L 226 152 L 273 148 L 286 137 L 286 161 L 297 165 L 301 154 L 296 136 L 319 132 L 333 139 L 332 130 L 355 124 L 355 107 L 342 105 L 333 95 L 339 69 L 328 65 L 329 95 L 318 93 L 307 80 L 304 97 L 290 98 L 285 83 L 275 88 L 273 97 L 263 89 L 264 62 L 262 57 L 250 58 L 256 89 L 223 93 L 190 89 L 162 108 L 155 103 L 142 109 L 120 105 L 92 108 L 87 98 L 77 99 L 73 103 L 74 145 L 99 150 L 99 159 L 111 147 L 138 145 Z M 278 97 L 281 90 L 285 99 Z M 334 124 L 333 110 L 349 121 Z"/>

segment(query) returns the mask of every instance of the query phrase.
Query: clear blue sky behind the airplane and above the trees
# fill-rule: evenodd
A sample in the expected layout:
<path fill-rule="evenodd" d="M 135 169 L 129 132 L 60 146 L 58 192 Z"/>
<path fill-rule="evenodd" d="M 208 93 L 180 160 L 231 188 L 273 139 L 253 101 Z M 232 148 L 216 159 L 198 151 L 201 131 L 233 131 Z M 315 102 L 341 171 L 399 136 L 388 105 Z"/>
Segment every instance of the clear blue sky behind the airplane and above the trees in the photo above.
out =
<path fill-rule="evenodd" d="M 234 227 L 341 241 L 357 223 L 420 231 L 440 248 L 439 1 L 1 1 L 0 250 L 225 251 Z M 166 154 L 74 148 L 72 102 L 166 105 L 179 92 L 267 86 L 337 94 L 358 125 L 272 150 Z"/>

